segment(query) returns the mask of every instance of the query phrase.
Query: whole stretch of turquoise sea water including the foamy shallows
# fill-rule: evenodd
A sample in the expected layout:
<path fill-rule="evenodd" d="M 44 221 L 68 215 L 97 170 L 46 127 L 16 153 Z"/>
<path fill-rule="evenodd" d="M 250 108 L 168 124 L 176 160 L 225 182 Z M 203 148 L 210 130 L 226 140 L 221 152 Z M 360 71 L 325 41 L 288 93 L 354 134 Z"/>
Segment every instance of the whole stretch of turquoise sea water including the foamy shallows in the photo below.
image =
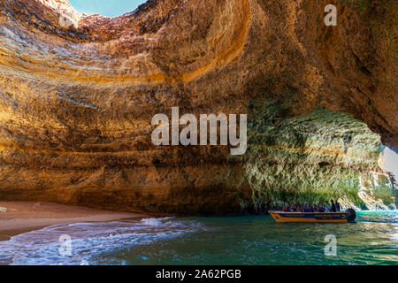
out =
<path fill-rule="evenodd" d="M 144 218 L 50 226 L 0 242 L 0 264 L 398 264 L 398 212 L 354 224 L 277 224 L 270 216 Z M 59 256 L 61 234 L 72 256 Z M 335 235 L 336 256 L 325 256 Z"/>

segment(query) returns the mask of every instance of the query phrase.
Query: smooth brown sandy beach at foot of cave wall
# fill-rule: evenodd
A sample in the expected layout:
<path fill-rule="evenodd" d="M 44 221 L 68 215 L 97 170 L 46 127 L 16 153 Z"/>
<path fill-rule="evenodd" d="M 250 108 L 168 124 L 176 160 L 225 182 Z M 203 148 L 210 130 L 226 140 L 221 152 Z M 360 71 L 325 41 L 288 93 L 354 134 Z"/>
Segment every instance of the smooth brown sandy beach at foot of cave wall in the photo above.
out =
<path fill-rule="evenodd" d="M 6 208 L 7 211 L 0 212 L 0 241 L 7 241 L 19 233 L 62 223 L 146 217 L 137 213 L 96 210 L 57 203 L 0 202 L 0 211 L 1 208 Z"/>

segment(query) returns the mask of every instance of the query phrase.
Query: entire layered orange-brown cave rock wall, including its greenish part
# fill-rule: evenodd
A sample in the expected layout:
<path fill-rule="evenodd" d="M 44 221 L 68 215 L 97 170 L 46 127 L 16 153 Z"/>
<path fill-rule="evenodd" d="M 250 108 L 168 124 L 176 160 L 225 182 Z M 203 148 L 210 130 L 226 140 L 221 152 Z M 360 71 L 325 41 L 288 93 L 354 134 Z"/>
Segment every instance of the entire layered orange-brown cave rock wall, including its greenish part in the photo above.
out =
<path fill-rule="evenodd" d="M 0 197 L 181 214 L 394 207 L 378 158 L 382 142 L 398 149 L 397 4 L 335 2 L 337 27 L 320 0 L 149 0 L 117 18 L 0 0 Z M 247 153 L 155 147 L 150 121 L 173 106 L 248 113 Z"/>

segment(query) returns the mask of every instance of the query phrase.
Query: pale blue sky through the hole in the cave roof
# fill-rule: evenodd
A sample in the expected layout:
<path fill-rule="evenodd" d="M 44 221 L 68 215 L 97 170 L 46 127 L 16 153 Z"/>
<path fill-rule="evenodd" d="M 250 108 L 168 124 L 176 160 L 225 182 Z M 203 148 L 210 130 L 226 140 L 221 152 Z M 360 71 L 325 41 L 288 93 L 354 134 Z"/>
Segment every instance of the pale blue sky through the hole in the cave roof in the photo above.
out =
<path fill-rule="evenodd" d="M 69 2 L 80 13 L 116 17 L 128 11 L 134 11 L 146 0 L 69 0 Z"/>

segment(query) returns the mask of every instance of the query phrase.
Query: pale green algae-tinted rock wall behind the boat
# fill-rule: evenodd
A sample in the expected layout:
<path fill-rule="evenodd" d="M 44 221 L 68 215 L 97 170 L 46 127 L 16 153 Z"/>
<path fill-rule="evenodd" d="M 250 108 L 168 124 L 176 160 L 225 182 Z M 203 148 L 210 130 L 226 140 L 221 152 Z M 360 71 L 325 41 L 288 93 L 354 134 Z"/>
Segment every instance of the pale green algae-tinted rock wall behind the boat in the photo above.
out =
<path fill-rule="evenodd" d="M 338 199 L 343 208 L 395 209 L 394 177 L 378 165 L 384 148 L 379 134 L 348 114 L 322 108 L 284 119 L 281 104 L 266 103 L 254 111 L 244 160 L 253 194 L 243 205 Z"/>

